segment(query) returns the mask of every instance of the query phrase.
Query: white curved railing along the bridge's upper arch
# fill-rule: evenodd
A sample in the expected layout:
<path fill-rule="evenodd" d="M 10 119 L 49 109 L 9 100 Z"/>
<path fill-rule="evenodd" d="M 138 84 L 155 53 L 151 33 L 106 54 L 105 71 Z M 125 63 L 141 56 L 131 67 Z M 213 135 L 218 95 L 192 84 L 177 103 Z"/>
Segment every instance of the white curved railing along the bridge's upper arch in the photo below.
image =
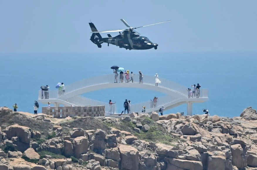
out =
<path fill-rule="evenodd" d="M 90 77 L 87 79 L 83 79 L 77 82 L 74 82 L 72 84 L 69 84 L 65 86 L 65 93 L 70 93 L 79 89 L 83 89 L 85 87 L 90 87 L 94 85 L 99 84 L 109 84 L 109 83 L 143 83 L 148 85 L 158 85 L 160 88 L 169 89 L 172 91 L 175 91 L 177 93 L 180 93 L 181 95 L 187 96 L 187 89 L 186 86 L 183 86 L 181 84 L 175 83 L 173 81 L 170 81 L 168 79 L 164 79 L 161 77 L 158 77 L 158 79 L 155 78 L 155 76 L 149 76 L 149 75 L 143 75 L 142 77 L 139 74 L 134 74 L 133 76 L 129 74 L 129 76 L 126 76 L 125 74 L 121 75 L 118 74 L 115 76 L 115 74 L 107 74 L 102 75 L 98 77 Z M 156 82 L 158 84 L 156 84 Z"/>

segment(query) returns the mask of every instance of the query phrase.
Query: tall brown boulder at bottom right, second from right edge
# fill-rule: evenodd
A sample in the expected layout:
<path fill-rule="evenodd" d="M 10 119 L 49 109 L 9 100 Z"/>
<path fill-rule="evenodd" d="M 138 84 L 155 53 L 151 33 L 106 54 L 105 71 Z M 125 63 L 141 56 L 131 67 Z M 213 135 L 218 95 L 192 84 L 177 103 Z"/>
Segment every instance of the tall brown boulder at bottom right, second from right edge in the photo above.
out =
<path fill-rule="evenodd" d="M 245 157 L 243 154 L 243 148 L 240 144 L 234 144 L 230 147 L 233 165 L 238 169 L 243 169 L 245 166 L 247 166 L 247 157 Z"/>

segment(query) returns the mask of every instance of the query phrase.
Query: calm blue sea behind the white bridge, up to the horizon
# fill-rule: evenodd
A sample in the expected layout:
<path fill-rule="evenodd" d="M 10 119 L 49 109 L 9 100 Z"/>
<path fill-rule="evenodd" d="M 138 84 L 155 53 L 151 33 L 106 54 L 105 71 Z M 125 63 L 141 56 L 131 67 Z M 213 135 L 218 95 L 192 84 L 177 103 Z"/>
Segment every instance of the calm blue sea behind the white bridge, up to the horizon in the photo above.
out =
<path fill-rule="evenodd" d="M 153 76 L 158 73 L 159 77 L 188 87 L 199 83 L 202 89 L 209 89 L 209 101 L 193 104 L 193 114 L 202 114 L 202 108 L 207 108 L 211 115 L 234 117 L 246 107 L 257 108 L 257 52 L 149 51 L 0 54 L 0 106 L 12 108 L 17 103 L 18 111 L 32 113 L 40 86 L 48 85 L 55 89 L 58 82 L 68 85 L 88 77 L 111 74 L 110 67 L 118 65 L 135 73 L 139 70 Z M 83 96 L 105 102 L 111 99 L 116 101 L 121 111 L 125 99 L 139 103 L 165 95 L 142 89 L 118 88 Z M 181 105 L 166 110 L 164 114 L 186 110 L 186 105 Z"/>

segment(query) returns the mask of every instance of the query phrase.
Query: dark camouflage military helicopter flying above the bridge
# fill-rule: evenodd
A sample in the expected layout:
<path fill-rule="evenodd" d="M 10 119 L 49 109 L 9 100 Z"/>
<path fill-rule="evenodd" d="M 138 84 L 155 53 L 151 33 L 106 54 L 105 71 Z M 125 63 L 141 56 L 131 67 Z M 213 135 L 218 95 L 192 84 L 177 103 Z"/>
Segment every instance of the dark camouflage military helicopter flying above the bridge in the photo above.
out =
<path fill-rule="evenodd" d="M 122 29 L 122 30 L 98 31 L 92 22 L 89 23 L 89 26 L 92 30 L 91 32 L 92 36 L 90 40 L 94 44 L 96 44 L 98 48 L 102 47 L 101 45 L 102 43 L 108 43 L 108 46 L 109 44 L 113 44 L 113 45 L 119 46 L 120 48 L 125 48 L 126 50 L 128 49 L 129 50 L 148 50 L 151 48 L 154 48 L 156 50 L 158 44 L 152 43 L 147 37 L 141 36 L 140 33 L 135 31 L 135 29 L 169 22 L 171 20 L 163 21 L 160 23 L 154 23 L 146 26 L 141 26 L 141 27 L 135 27 L 135 28 L 129 26 L 129 24 L 126 23 L 124 19 L 121 19 L 121 21 L 129 28 Z M 121 31 L 123 32 L 121 33 Z M 102 38 L 102 36 L 100 35 L 100 33 L 112 33 L 112 32 L 119 32 L 119 35 L 112 37 L 110 34 L 107 34 L 108 38 Z"/>

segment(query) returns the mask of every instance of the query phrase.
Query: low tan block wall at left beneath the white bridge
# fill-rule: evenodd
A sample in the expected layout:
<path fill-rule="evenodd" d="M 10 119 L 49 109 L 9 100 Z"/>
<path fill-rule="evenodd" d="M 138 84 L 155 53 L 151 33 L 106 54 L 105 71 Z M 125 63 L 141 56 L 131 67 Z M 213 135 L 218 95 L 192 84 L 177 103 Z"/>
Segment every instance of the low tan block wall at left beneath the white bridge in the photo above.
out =
<path fill-rule="evenodd" d="M 68 116 L 98 117 L 105 116 L 105 106 L 64 106 L 64 107 L 42 107 L 42 113 L 53 115 L 54 118 L 66 118 Z"/>

